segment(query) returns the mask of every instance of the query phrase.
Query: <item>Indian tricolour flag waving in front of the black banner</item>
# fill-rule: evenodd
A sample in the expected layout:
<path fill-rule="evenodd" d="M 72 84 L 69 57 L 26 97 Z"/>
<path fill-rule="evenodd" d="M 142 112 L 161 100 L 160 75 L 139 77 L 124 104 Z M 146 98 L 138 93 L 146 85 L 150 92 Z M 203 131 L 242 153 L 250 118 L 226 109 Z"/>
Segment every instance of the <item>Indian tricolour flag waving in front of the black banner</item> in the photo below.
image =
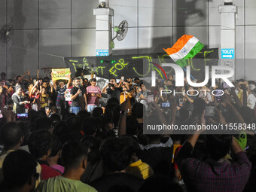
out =
<path fill-rule="evenodd" d="M 178 66 L 187 66 L 187 59 L 197 55 L 203 49 L 203 44 L 192 35 L 183 35 L 172 46 L 172 48 L 163 49 L 174 60 Z"/>

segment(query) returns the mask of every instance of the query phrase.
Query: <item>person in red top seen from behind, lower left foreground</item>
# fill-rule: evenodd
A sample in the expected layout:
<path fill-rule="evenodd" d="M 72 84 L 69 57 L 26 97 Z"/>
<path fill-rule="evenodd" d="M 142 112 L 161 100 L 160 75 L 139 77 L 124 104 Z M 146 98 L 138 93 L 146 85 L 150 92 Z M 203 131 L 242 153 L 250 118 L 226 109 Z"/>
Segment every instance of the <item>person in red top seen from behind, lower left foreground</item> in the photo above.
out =
<path fill-rule="evenodd" d="M 47 130 L 38 130 L 29 137 L 29 151 L 41 165 L 41 179 L 53 178 L 61 175 L 60 172 L 50 167 L 47 157 L 52 148 L 52 136 Z"/>

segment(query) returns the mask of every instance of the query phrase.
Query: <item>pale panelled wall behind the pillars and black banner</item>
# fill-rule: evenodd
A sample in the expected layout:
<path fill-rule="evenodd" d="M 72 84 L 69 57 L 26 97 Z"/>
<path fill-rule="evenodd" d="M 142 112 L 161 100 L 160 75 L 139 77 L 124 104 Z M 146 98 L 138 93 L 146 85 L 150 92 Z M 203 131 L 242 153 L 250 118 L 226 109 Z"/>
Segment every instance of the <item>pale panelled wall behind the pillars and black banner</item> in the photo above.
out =
<path fill-rule="evenodd" d="M 223 0 L 110 0 L 114 25 L 130 24 L 123 41 L 114 41 L 114 54 L 163 52 L 181 35 L 195 35 L 209 48 L 220 46 Z M 236 21 L 236 72 L 254 78 L 256 1 L 233 0 Z M 7 44 L 0 42 L 0 71 L 14 78 L 30 69 L 64 67 L 65 56 L 95 55 L 96 0 L 0 0 L 0 26 L 14 25 Z"/>

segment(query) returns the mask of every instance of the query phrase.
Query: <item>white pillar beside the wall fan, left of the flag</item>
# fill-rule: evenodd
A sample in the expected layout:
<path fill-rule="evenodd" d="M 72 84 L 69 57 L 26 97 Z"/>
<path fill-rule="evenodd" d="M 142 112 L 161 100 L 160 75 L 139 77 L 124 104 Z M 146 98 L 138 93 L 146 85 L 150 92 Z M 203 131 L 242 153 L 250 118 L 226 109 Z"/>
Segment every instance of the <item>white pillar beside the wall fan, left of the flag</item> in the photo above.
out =
<path fill-rule="evenodd" d="M 96 56 L 108 56 L 112 53 L 111 41 L 111 17 L 114 10 L 111 8 L 93 9 L 96 15 Z"/>

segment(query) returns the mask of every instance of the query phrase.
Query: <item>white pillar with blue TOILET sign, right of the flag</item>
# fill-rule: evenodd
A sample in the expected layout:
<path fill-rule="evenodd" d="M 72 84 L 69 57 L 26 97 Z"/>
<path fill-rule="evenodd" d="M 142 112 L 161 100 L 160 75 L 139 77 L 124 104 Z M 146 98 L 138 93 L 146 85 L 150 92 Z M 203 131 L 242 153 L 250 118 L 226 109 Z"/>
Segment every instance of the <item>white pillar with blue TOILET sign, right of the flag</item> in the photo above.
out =
<path fill-rule="evenodd" d="M 234 69 L 236 78 L 236 13 L 237 7 L 233 0 L 224 0 L 224 5 L 218 7 L 221 14 L 221 66 Z M 224 71 L 225 73 L 225 71 Z"/>

